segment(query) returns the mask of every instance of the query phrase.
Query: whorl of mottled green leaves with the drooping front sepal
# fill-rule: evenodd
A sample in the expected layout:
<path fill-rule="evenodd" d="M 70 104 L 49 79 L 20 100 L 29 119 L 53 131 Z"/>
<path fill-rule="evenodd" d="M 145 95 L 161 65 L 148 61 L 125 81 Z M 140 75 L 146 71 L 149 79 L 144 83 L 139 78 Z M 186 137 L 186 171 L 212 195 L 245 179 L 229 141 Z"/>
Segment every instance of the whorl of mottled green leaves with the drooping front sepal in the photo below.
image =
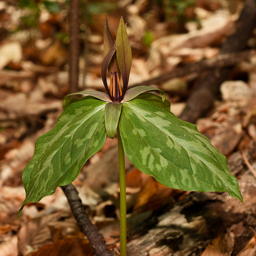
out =
<path fill-rule="evenodd" d="M 103 146 L 106 130 L 114 137 L 118 121 L 124 151 L 140 171 L 167 187 L 226 191 L 242 201 L 226 157 L 194 124 L 159 106 L 166 106 L 165 100 L 155 94 L 150 99 L 149 94 L 124 103 L 85 97 L 70 104 L 52 130 L 36 142 L 34 156 L 23 171 L 26 199 L 19 217 L 24 204 L 74 181 L 87 159 Z"/>

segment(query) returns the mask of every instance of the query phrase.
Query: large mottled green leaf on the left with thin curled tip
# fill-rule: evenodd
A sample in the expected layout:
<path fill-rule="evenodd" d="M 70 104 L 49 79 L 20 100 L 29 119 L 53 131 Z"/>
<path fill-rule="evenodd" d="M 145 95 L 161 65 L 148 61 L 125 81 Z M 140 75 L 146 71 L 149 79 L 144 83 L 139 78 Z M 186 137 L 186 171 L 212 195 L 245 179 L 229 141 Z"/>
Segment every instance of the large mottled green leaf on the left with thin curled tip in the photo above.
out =
<path fill-rule="evenodd" d="M 58 186 L 74 181 L 87 159 L 98 152 L 106 139 L 106 102 L 88 99 L 72 103 L 56 125 L 36 141 L 34 156 L 23 171 L 28 202 L 38 202 Z"/>

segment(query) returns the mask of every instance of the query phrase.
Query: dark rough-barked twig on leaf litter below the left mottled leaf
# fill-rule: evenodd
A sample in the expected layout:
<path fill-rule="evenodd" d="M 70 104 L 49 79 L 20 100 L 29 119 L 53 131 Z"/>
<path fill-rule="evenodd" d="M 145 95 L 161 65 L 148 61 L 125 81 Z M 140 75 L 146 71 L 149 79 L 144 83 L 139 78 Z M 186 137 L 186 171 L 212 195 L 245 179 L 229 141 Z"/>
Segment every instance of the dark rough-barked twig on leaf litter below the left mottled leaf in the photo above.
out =
<path fill-rule="evenodd" d="M 80 230 L 87 236 L 97 256 L 112 256 L 112 253 L 105 244 L 104 237 L 99 229 L 92 224 L 84 211 L 84 206 L 78 196 L 76 188 L 73 184 L 61 186 L 61 188 L 68 198 L 68 203 L 70 204 L 70 208 L 76 218 Z"/>

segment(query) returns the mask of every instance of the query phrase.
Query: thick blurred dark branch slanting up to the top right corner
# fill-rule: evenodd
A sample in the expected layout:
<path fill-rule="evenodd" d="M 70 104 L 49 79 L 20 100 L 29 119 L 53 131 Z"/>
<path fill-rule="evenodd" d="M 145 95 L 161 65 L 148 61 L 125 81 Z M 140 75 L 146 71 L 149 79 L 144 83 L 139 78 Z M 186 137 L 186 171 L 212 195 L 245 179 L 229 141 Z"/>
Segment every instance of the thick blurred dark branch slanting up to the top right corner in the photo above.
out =
<path fill-rule="evenodd" d="M 235 32 L 228 37 L 220 49 L 220 54 L 242 51 L 252 35 L 256 23 L 256 1 L 246 0 L 244 9 L 235 24 Z M 225 81 L 232 68 L 214 69 L 201 79 L 187 100 L 187 106 L 180 118 L 195 123 L 212 106 L 220 84 Z"/>

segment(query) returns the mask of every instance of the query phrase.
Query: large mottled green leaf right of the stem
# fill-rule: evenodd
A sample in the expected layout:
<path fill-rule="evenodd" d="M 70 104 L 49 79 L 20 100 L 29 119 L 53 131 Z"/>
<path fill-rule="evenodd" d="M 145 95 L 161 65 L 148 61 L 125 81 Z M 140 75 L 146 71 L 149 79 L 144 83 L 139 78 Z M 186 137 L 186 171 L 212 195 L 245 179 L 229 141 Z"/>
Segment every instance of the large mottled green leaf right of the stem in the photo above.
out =
<path fill-rule="evenodd" d="M 128 159 L 163 185 L 186 191 L 226 191 L 243 200 L 226 157 L 194 124 L 149 101 L 134 99 L 123 103 L 119 128 Z"/>

